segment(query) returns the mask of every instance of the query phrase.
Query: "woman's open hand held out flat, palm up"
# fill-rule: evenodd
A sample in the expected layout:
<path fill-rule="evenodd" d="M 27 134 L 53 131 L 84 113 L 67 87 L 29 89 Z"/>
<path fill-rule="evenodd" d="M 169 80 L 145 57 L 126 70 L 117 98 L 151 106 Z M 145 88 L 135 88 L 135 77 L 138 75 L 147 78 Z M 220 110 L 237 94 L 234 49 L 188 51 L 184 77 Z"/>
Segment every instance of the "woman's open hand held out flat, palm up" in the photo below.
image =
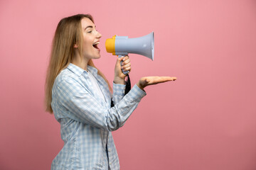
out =
<path fill-rule="evenodd" d="M 160 84 L 166 81 L 175 81 L 176 79 L 176 77 L 142 77 L 139 79 L 137 86 L 143 90 L 146 86 Z"/>

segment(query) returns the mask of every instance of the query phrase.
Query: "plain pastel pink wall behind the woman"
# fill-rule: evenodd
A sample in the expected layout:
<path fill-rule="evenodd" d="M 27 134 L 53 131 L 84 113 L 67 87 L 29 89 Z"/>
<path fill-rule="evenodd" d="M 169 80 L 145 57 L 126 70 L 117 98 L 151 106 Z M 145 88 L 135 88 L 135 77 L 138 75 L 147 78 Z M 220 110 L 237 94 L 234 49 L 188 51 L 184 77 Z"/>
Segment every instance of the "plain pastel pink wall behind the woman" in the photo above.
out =
<path fill-rule="evenodd" d="M 102 33 L 96 64 L 112 81 L 112 35 L 154 30 L 155 60 L 132 60 L 132 84 L 150 75 L 177 81 L 146 88 L 113 132 L 121 169 L 256 169 L 256 1 L 0 1 L 0 169 L 50 169 L 60 125 L 43 110 L 44 82 L 61 18 L 91 13 Z"/>

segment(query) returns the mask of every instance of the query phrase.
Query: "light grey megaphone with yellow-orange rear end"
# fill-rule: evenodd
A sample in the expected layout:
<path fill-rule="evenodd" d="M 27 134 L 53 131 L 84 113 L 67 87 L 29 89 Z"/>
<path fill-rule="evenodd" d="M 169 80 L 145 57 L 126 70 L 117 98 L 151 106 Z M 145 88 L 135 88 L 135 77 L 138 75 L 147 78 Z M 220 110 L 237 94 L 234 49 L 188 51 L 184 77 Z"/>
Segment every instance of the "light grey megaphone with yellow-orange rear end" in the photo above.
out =
<path fill-rule="evenodd" d="M 128 38 L 128 36 L 114 35 L 108 38 L 105 43 L 107 52 L 122 57 L 129 53 L 144 55 L 154 60 L 154 32 L 139 38 Z M 122 62 L 121 62 L 122 64 Z M 124 74 L 128 72 L 122 71 Z"/>

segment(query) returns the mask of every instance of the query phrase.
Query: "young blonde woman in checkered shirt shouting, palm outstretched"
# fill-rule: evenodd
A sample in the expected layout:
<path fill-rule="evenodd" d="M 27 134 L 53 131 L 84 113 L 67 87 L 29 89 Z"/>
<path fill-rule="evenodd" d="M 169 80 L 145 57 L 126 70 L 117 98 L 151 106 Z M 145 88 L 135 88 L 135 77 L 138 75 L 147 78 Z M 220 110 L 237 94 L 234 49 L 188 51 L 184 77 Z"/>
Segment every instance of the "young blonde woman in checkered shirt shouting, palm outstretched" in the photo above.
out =
<path fill-rule="evenodd" d="M 131 71 L 129 57 L 117 59 L 112 89 L 92 62 L 100 58 L 101 36 L 88 14 L 63 18 L 55 30 L 46 77 L 46 111 L 60 123 L 64 146 L 51 169 L 119 169 L 111 132 L 122 127 L 137 108 L 146 95 L 144 87 L 176 79 L 143 77 L 124 96 L 122 69 Z"/>

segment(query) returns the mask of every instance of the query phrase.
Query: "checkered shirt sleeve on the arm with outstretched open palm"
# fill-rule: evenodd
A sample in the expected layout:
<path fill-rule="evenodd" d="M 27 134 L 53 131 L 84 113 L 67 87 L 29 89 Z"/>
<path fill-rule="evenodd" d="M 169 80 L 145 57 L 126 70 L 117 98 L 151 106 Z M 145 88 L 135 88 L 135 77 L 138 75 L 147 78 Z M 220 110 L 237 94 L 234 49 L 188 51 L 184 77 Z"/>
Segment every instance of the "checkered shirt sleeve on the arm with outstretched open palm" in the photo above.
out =
<path fill-rule="evenodd" d="M 116 96 L 114 107 L 106 108 L 87 89 L 70 79 L 63 79 L 58 84 L 55 94 L 63 114 L 109 131 L 122 127 L 129 115 L 137 108 L 139 101 L 146 96 L 146 93 L 135 85 L 124 97 L 121 97 L 123 96 L 121 93 L 114 95 Z"/>

